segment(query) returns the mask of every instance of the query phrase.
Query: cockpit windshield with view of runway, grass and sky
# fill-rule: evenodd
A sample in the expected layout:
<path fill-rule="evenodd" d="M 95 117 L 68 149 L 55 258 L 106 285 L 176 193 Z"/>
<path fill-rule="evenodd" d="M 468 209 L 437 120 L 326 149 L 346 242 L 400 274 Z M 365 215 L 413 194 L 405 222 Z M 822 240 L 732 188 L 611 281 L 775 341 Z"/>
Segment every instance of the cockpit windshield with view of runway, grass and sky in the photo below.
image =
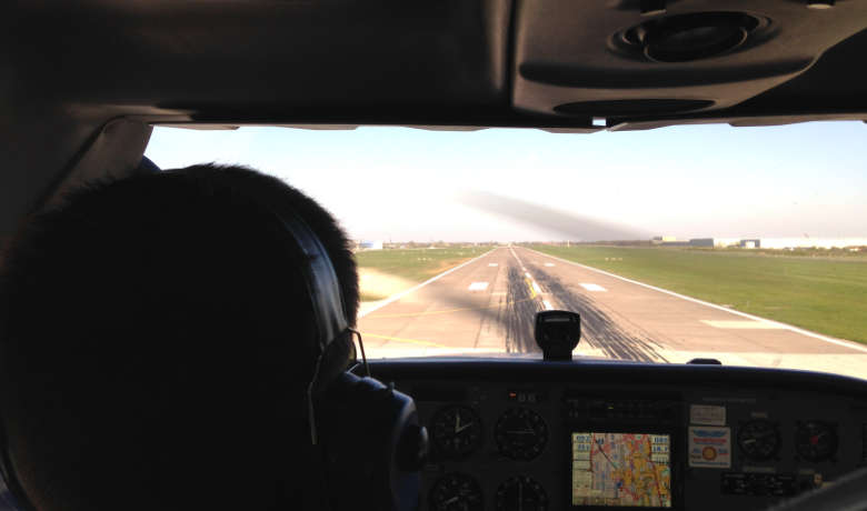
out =
<path fill-rule="evenodd" d="M 559 134 L 158 127 L 160 168 L 240 163 L 355 240 L 369 358 L 577 357 L 867 374 L 860 122 Z M 590 433 L 588 433 L 590 434 Z"/>

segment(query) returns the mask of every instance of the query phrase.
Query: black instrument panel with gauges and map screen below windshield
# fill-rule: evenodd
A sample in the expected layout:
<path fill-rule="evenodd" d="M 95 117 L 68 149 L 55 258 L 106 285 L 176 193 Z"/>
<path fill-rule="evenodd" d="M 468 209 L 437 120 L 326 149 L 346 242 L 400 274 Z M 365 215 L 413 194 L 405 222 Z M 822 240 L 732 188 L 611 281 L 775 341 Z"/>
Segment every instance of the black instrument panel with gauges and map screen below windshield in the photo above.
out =
<path fill-rule="evenodd" d="M 867 381 L 721 365 L 371 363 L 430 434 L 422 510 L 765 509 L 867 464 Z"/>

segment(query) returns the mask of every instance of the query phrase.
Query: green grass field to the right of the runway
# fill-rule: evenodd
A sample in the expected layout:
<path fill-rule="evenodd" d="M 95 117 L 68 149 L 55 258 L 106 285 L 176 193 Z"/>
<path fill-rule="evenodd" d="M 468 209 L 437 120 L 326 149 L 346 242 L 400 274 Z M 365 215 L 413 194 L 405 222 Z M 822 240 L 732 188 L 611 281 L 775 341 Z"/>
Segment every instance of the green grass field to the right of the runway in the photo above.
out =
<path fill-rule="evenodd" d="M 532 248 L 743 312 L 867 343 L 867 258 L 665 248 Z"/>

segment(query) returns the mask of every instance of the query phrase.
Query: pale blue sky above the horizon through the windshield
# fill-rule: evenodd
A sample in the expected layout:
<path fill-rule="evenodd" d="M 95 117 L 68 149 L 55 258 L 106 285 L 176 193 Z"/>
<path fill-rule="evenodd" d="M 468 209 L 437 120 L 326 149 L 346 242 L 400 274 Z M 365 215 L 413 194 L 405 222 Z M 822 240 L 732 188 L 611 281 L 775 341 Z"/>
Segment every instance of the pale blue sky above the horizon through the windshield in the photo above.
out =
<path fill-rule="evenodd" d="M 867 126 L 676 127 L 594 134 L 490 129 L 156 128 L 161 168 L 216 161 L 275 174 L 359 239 L 556 240 L 480 211 L 487 191 L 644 234 L 867 237 Z M 570 217 L 571 218 L 571 217 Z"/>

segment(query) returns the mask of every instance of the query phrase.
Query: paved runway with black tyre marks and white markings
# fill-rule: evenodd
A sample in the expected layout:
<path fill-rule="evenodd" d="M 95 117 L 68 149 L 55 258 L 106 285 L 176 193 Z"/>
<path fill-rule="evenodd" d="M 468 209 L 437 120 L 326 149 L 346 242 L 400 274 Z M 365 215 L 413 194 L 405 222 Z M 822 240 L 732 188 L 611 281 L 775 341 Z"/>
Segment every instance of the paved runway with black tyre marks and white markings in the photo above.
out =
<path fill-rule="evenodd" d="M 540 252 L 501 247 L 366 303 L 368 355 L 538 355 L 536 312 L 581 315 L 577 357 L 807 369 L 867 378 L 867 347 L 712 305 Z"/>

